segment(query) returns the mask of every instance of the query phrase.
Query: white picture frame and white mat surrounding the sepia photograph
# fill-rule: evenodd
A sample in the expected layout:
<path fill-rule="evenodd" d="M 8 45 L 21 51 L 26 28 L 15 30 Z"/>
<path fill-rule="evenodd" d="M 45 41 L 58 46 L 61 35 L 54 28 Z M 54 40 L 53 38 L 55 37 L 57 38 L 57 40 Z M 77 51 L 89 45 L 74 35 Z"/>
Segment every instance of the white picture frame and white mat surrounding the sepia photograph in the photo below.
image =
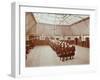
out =
<path fill-rule="evenodd" d="M 48 7 L 38 6 L 28 3 L 12 3 L 11 7 L 11 75 L 14 77 L 22 76 L 46 76 L 46 75 L 63 75 L 77 72 L 95 72 L 96 57 L 95 51 L 95 20 L 96 8 L 87 7 Z M 25 67 L 25 12 L 46 12 L 46 13 L 63 13 L 63 14 L 88 14 L 90 15 L 90 64 L 89 65 L 69 65 L 69 66 L 52 66 L 52 67 Z M 96 53 L 95 53 L 96 54 Z"/>

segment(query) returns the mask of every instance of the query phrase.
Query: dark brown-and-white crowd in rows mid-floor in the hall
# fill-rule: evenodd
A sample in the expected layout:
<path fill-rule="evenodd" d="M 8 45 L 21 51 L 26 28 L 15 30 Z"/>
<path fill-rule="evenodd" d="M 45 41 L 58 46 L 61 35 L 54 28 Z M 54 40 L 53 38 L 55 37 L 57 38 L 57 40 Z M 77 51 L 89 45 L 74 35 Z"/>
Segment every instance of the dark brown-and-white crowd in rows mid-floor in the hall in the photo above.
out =
<path fill-rule="evenodd" d="M 65 41 L 50 40 L 51 48 L 56 52 L 57 56 L 60 57 L 61 61 L 73 59 L 75 56 L 75 45 L 69 44 Z"/>

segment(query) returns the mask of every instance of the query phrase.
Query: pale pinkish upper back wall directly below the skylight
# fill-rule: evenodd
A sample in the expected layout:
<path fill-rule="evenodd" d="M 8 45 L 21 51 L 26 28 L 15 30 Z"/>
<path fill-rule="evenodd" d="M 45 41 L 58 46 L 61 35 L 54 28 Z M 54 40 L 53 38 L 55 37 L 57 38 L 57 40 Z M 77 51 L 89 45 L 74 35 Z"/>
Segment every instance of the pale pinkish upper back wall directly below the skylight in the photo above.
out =
<path fill-rule="evenodd" d="M 71 29 L 67 26 L 50 25 L 50 24 L 37 24 L 36 25 L 38 35 L 71 35 Z"/>

